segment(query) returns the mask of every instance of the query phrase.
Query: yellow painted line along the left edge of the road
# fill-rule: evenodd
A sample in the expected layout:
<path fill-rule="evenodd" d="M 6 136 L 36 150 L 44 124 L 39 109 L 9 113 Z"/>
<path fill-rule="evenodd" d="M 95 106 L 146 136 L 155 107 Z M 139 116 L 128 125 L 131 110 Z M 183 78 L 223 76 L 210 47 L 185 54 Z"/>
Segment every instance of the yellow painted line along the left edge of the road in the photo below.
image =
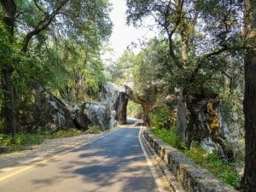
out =
<path fill-rule="evenodd" d="M 119 129 L 117 129 L 117 130 L 115 130 L 115 131 L 111 131 L 111 132 L 107 133 L 106 135 L 104 135 L 104 136 L 102 136 L 102 137 L 97 137 L 96 139 L 93 139 L 93 140 L 91 140 L 91 141 L 89 141 L 89 142 L 80 144 L 80 145 L 78 145 L 78 146 L 76 146 L 76 147 L 74 147 L 74 148 L 67 149 L 67 150 L 64 151 L 64 152 L 55 154 L 54 156 L 50 156 L 50 157 L 48 157 L 48 158 L 46 158 L 46 159 L 44 159 L 44 160 L 41 160 L 41 161 L 39 161 L 39 162 L 32 163 L 31 166 L 26 166 L 25 168 L 22 168 L 22 169 L 20 169 L 20 170 L 18 170 L 18 171 L 16 171 L 16 172 L 9 173 L 9 174 L 6 175 L 6 176 L 0 177 L 0 182 L 3 181 L 3 180 L 5 180 L 5 179 L 7 179 L 7 178 L 9 178 L 9 177 L 14 177 L 15 175 L 18 175 L 18 174 L 20 174 L 21 172 L 26 172 L 27 170 L 30 170 L 30 169 L 32 169 L 32 168 L 35 167 L 35 166 L 41 165 L 41 164 L 43 164 L 43 163 L 46 163 L 46 162 L 49 161 L 49 160 L 53 160 L 53 159 L 58 158 L 58 157 L 60 157 L 60 156 L 62 156 L 62 155 L 64 155 L 64 154 L 68 154 L 69 152 L 71 152 L 71 151 L 73 151 L 73 150 L 75 150 L 75 149 L 84 147 L 85 145 L 87 145 L 87 144 L 89 144 L 89 143 L 92 143 L 92 142 L 95 142 L 95 141 L 97 141 L 97 140 L 100 140 L 100 139 L 103 138 L 103 137 L 107 137 L 107 136 L 109 136 L 109 135 L 113 134 L 114 132 L 119 131 L 119 130 L 121 130 L 121 129 L 123 129 L 123 128 L 119 128 Z"/>

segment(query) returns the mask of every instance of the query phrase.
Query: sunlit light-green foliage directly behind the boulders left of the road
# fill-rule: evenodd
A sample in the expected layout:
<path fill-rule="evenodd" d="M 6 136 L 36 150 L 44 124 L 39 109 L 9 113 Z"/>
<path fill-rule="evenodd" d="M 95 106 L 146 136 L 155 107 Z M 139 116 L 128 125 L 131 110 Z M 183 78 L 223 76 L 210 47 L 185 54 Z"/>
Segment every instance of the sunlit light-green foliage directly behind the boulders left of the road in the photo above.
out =
<path fill-rule="evenodd" d="M 58 55 L 58 56 L 56 56 Z M 70 102 L 96 99 L 100 85 L 105 81 L 99 51 L 73 41 L 53 46 L 47 63 L 51 63 L 56 81 L 49 88 Z"/>

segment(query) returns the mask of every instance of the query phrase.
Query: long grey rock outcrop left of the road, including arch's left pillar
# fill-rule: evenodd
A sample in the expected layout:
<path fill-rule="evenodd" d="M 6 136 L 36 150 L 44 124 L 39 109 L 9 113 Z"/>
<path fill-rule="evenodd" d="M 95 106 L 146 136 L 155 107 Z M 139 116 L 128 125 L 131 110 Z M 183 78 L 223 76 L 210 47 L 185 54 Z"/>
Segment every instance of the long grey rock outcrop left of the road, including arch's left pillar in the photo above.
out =
<path fill-rule="evenodd" d="M 42 86 L 35 87 L 34 125 L 56 131 L 77 127 L 86 130 L 88 125 L 98 125 L 102 131 L 126 123 L 128 96 L 125 89 L 115 84 L 102 85 L 102 102 L 84 102 L 82 105 L 63 101 Z"/>

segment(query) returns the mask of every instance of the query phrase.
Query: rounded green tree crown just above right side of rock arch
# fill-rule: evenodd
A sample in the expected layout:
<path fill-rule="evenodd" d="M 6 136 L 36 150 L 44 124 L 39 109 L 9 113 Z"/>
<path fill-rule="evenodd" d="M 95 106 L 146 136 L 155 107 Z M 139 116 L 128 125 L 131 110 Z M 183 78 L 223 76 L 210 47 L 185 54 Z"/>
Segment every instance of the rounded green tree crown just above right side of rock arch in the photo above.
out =
<path fill-rule="evenodd" d="M 172 61 L 169 61 L 166 41 L 151 39 L 134 63 L 134 93 L 145 101 L 157 101 L 164 97 L 171 86 L 170 65 Z"/>

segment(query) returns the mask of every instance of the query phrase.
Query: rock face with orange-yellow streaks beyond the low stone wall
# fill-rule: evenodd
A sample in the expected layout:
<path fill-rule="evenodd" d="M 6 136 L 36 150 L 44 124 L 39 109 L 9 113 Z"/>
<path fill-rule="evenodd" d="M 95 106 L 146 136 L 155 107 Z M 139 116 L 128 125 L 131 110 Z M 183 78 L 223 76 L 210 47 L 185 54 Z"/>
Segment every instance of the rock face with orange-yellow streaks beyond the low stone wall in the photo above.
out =
<path fill-rule="evenodd" d="M 209 153 L 218 149 L 226 160 L 234 160 L 236 148 L 232 146 L 241 135 L 237 133 L 239 128 L 231 130 L 224 122 L 218 104 L 215 99 L 204 99 L 193 104 L 197 115 L 193 140 L 201 141 L 201 147 Z"/>

